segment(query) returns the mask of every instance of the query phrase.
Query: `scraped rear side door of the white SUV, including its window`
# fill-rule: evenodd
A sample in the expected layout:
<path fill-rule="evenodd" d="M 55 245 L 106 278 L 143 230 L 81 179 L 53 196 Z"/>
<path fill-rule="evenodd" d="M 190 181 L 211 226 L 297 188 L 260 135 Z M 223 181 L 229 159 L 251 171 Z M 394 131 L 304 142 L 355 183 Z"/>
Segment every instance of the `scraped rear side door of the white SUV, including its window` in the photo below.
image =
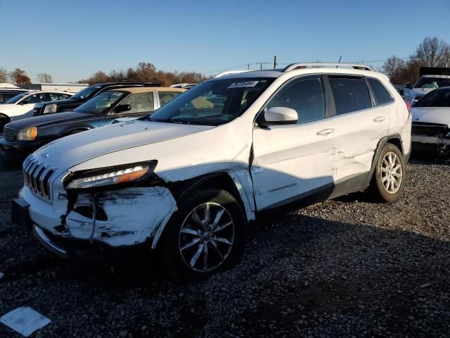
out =
<path fill-rule="evenodd" d="M 390 113 L 377 105 L 364 77 L 328 75 L 328 82 L 336 113 L 333 176 L 336 194 L 342 194 L 366 182 L 378 142 L 389 130 Z"/>

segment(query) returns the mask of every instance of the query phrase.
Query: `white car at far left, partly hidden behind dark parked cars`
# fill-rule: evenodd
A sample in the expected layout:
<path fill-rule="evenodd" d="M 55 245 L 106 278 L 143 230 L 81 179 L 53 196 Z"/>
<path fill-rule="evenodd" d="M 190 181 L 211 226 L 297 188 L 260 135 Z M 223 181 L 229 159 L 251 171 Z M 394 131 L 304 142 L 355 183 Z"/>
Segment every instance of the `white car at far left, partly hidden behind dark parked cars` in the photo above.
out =
<path fill-rule="evenodd" d="M 32 116 L 34 104 L 46 101 L 68 99 L 72 94 L 66 92 L 30 91 L 13 96 L 0 105 L 0 128 L 10 121 Z"/>

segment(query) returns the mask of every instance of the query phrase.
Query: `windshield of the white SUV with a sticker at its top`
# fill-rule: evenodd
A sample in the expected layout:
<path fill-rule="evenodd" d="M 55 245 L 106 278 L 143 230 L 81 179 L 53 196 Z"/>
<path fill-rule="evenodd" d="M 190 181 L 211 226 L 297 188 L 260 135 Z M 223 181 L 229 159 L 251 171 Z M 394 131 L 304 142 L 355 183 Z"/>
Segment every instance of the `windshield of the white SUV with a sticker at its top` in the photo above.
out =
<path fill-rule="evenodd" d="M 255 77 L 203 82 L 158 109 L 149 119 L 192 125 L 228 123 L 241 115 L 273 81 Z"/>

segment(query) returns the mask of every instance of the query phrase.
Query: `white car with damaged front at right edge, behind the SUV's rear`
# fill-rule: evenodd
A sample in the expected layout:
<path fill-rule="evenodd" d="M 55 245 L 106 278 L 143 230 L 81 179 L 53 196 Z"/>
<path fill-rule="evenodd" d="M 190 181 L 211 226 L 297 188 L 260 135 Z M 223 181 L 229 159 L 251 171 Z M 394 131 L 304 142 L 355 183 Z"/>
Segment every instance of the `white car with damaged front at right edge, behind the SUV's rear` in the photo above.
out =
<path fill-rule="evenodd" d="M 411 108 L 414 151 L 450 154 L 450 87 L 435 89 Z"/>

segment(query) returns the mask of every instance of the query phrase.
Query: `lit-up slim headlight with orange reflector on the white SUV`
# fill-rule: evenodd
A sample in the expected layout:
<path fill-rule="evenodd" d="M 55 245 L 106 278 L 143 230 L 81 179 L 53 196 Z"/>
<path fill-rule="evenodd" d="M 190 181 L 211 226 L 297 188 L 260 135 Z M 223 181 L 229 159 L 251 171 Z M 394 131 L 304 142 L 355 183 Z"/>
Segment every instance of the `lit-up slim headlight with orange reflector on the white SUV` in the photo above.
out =
<path fill-rule="evenodd" d="M 74 173 L 69 177 L 70 182 L 65 184 L 65 189 L 91 189 L 138 181 L 153 173 L 157 163 L 133 163 Z"/>

